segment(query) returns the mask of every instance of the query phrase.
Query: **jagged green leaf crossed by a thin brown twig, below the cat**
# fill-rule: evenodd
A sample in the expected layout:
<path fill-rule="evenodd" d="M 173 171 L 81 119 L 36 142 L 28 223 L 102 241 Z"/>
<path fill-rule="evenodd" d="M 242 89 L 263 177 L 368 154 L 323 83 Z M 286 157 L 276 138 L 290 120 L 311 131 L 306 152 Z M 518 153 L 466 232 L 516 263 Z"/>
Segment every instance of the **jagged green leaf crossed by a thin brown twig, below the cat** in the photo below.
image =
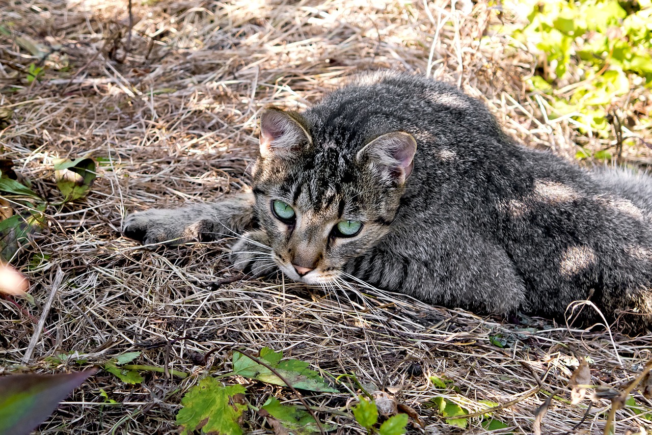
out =
<path fill-rule="evenodd" d="M 326 381 L 319 376 L 318 372 L 310 370 L 308 363 L 298 359 L 280 361 L 281 352 L 274 352 L 269 348 L 263 348 L 260 359 L 273 367 L 283 378 L 288 380 L 295 388 L 308 391 L 321 391 L 326 393 L 338 393 L 330 387 Z M 269 368 L 256 363 L 256 361 L 244 356 L 240 352 L 233 352 L 233 372 L 245 378 L 256 379 L 274 385 L 286 385 Z"/>

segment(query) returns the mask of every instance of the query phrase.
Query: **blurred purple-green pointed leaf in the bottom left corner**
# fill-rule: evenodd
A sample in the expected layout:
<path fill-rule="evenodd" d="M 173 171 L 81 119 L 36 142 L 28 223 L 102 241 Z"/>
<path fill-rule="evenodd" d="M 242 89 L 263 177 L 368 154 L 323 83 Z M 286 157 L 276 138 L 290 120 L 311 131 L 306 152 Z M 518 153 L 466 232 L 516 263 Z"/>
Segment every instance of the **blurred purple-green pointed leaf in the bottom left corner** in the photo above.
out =
<path fill-rule="evenodd" d="M 0 378 L 0 434 L 29 434 L 95 370 Z"/>

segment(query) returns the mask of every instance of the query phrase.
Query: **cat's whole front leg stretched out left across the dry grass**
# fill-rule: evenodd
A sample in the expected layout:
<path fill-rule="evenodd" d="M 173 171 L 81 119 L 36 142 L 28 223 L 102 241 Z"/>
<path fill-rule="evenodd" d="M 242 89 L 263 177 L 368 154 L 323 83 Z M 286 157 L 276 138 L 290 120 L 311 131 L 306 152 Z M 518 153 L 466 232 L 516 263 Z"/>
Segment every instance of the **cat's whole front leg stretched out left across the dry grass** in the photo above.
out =
<path fill-rule="evenodd" d="M 138 211 L 126 217 L 123 232 L 145 245 L 175 245 L 239 234 L 250 228 L 253 220 L 254 194 L 246 192 L 226 196 L 215 203 Z"/>

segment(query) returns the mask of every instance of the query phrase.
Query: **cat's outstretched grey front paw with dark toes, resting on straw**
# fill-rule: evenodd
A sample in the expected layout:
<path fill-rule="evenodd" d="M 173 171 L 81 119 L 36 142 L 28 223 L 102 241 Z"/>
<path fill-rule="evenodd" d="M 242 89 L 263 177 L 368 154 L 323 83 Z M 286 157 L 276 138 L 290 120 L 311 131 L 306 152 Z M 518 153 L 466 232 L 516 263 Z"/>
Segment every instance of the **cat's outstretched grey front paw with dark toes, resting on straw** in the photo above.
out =
<path fill-rule="evenodd" d="M 215 239 L 211 220 L 193 216 L 188 209 L 151 209 L 128 215 L 123 233 L 144 245 L 179 245 L 188 241 Z"/>

